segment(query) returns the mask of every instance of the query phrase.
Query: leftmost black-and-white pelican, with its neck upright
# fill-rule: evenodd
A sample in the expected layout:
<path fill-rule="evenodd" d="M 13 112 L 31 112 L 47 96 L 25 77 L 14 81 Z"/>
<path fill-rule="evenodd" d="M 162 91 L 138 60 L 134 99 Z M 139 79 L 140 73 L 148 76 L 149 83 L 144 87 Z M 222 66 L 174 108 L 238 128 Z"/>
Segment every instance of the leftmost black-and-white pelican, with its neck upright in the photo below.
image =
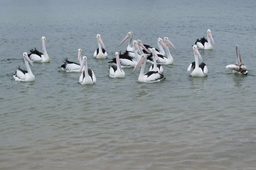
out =
<path fill-rule="evenodd" d="M 15 81 L 22 81 L 22 82 L 32 82 L 35 81 L 35 76 L 33 75 L 30 67 L 29 67 L 29 63 L 34 66 L 33 62 L 29 59 L 28 54 L 25 52 L 23 53 L 23 57 L 24 57 L 24 61 L 25 61 L 25 65 L 28 71 L 26 70 L 22 70 L 19 67 L 17 67 L 17 71 L 15 71 L 15 74 L 13 75 L 13 78 L 15 79 Z M 29 61 L 29 62 L 28 62 Z"/>

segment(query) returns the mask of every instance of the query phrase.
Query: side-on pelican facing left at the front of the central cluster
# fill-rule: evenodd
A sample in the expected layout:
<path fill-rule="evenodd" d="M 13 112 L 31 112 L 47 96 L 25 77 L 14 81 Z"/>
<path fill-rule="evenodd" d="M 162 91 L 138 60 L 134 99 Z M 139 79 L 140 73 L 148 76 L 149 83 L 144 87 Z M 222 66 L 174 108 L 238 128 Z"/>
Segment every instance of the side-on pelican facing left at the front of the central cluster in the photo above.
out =
<path fill-rule="evenodd" d="M 132 72 L 136 71 L 141 66 L 140 76 L 138 78 L 139 82 L 152 83 L 152 82 L 160 82 L 161 80 L 165 79 L 165 77 L 163 77 L 163 74 L 159 74 L 157 71 L 148 71 L 147 73 L 144 74 L 146 61 L 147 61 L 147 55 L 142 54 L 140 61 L 137 63 L 134 70 L 132 71 Z"/>

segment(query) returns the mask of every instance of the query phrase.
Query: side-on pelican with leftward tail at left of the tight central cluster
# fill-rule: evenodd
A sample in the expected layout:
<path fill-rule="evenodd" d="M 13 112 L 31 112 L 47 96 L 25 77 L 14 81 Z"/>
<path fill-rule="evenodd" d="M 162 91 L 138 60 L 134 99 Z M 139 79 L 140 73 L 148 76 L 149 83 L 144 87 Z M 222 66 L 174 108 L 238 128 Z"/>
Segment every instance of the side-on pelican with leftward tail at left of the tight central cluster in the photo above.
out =
<path fill-rule="evenodd" d="M 134 40 L 133 41 L 133 48 L 136 45 L 137 45 L 137 41 Z M 137 47 L 138 47 L 138 45 L 137 45 Z M 120 59 L 121 67 L 122 68 L 124 68 L 124 67 L 134 67 L 137 64 L 138 59 L 140 58 L 140 57 L 137 57 L 138 55 L 136 55 L 136 54 L 137 54 L 137 51 L 135 51 L 135 53 L 134 53 L 134 55 L 136 57 L 136 59 L 134 59 L 134 58 L 129 57 L 127 55 L 122 55 L 121 51 L 120 51 L 119 59 Z M 112 61 L 110 61 L 109 63 L 113 63 L 114 65 L 116 65 L 116 58 L 113 58 Z"/>

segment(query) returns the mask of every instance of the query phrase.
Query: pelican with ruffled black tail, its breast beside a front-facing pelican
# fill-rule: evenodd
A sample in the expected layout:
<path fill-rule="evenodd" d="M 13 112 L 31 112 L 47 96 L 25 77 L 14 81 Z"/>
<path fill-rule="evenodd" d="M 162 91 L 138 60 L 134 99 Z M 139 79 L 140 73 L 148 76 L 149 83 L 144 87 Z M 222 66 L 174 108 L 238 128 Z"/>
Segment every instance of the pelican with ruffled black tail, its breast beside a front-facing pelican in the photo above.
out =
<path fill-rule="evenodd" d="M 81 48 L 78 49 L 78 58 L 77 61 L 79 61 L 79 64 L 76 62 L 69 61 L 68 58 L 64 59 L 64 64 L 61 65 L 61 69 L 67 72 L 79 72 L 79 69 L 81 67 L 82 59 L 81 59 Z M 82 70 L 83 71 L 83 70 Z"/>

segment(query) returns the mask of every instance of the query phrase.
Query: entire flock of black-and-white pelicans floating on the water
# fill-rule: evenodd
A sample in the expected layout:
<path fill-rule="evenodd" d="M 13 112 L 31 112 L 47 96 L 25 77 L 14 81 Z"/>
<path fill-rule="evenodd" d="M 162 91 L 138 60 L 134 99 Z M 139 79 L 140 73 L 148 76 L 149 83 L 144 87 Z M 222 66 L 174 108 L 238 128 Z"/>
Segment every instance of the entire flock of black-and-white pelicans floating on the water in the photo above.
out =
<path fill-rule="evenodd" d="M 176 50 L 175 46 L 168 39 L 168 37 L 157 39 L 157 48 L 151 47 L 150 45 L 145 45 L 141 40 L 132 40 L 133 32 L 128 32 L 126 37 L 122 40 L 120 45 L 122 45 L 126 40 L 129 39 L 128 46 L 125 52 L 122 54 L 120 52 L 115 52 L 113 58 L 109 63 L 112 65 L 109 68 L 109 77 L 112 78 L 124 78 L 125 72 L 123 68 L 134 67 L 134 71 L 141 67 L 140 75 L 138 77 L 139 82 L 160 82 L 165 79 L 163 76 L 163 66 L 162 65 L 172 65 L 174 60 L 169 51 L 169 46 Z M 100 34 L 96 36 L 98 42 L 98 48 L 95 50 L 93 57 L 96 59 L 106 59 L 108 53 L 106 51 L 105 45 L 101 39 Z M 35 76 L 29 67 L 29 63 L 34 66 L 33 62 L 50 62 L 50 58 L 46 51 L 46 39 L 42 37 L 42 53 L 36 48 L 30 50 L 30 54 L 26 52 L 23 53 L 23 58 L 27 70 L 23 70 L 20 66 L 17 67 L 17 71 L 13 75 L 16 81 L 35 81 Z M 195 45 L 193 45 L 193 52 L 195 61 L 193 61 L 187 71 L 191 76 L 194 77 L 204 77 L 208 74 L 207 65 L 203 62 L 202 56 L 198 49 L 201 50 L 212 50 L 212 44 L 215 45 L 212 38 L 211 30 L 207 30 L 207 39 L 202 37 L 197 39 Z M 120 46 L 119 45 L 119 46 Z M 93 70 L 87 66 L 87 57 L 81 57 L 82 50 L 78 49 L 78 61 L 79 63 L 69 61 L 68 58 L 64 59 L 64 64 L 60 66 L 63 71 L 67 72 L 81 72 L 79 77 L 79 82 L 84 84 L 93 84 L 96 82 L 96 76 Z M 199 60 L 201 63 L 199 64 Z M 149 71 L 144 73 L 146 63 L 151 63 Z M 231 64 L 226 66 L 227 69 L 233 70 L 233 73 L 247 75 L 248 71 L 244 64 L 242 64 L 241 55 L 239 51 L 239 46 L 236 45 L 236 64 Z"/>

